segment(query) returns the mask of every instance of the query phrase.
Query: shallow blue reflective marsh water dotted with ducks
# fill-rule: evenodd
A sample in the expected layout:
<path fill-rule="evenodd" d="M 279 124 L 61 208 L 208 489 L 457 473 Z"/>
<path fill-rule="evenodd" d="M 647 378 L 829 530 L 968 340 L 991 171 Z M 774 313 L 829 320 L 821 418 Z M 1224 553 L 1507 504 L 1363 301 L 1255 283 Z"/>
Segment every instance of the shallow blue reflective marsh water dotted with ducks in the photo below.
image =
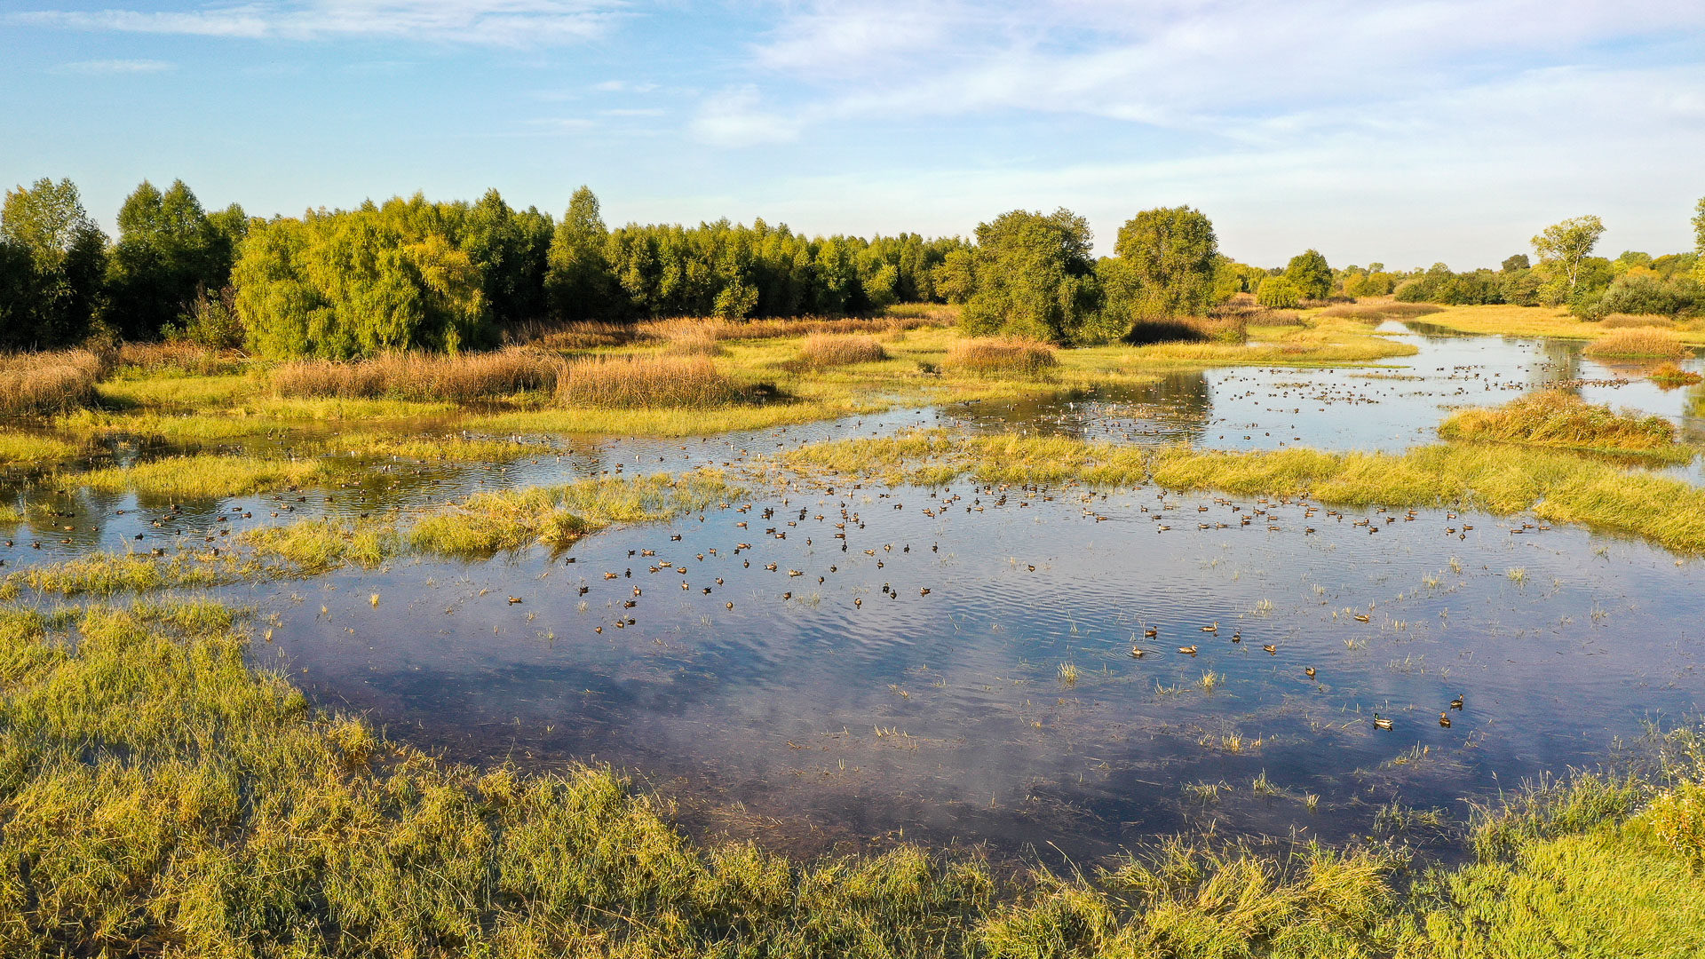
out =
<path fill-rule="evenodd" d="M 1570 382 L 1705 435 L 1695 391 L 1657 391 L 1579 345 L 1395 334 L 1422 352 L 1378 369 L 1178 372 L 1120 394 L 713 439 L 566 440 L 559 456 L 399 462 L 351 488 L 179 512 L 31 486 L 17 497 L 72 515 L 20 529 L 5 556 L 220 543 L 303 515 L 740 464 L 916 425 L 1398 450 L 1432 442 L 1454 406 Z M 968 481 L 801 481 L 747 503 L 607 531 L 558 556 L 217 592 L 276 616 L 257 662 L 392 735 L 474 761 L 609 761 L 680 799 L 696 829 L 806 851 L 922 838 L 1052 843 L 1081 858 L 1209 821 L 1344 840 L 1388 822 L 1378 811 L 1393 800 L 1459 819 L 1465 799 L 1598 763 L 1644 722 L 1700 706 L 1698 567 L 1581 529 Z M 1458 695 L 1465 708 L 1449 710 Z M 1258 776 L 1272 788 L 1258 792 Z M 1187 790 L 1202 783 L 1226 788 L 1217 800 Z"/>

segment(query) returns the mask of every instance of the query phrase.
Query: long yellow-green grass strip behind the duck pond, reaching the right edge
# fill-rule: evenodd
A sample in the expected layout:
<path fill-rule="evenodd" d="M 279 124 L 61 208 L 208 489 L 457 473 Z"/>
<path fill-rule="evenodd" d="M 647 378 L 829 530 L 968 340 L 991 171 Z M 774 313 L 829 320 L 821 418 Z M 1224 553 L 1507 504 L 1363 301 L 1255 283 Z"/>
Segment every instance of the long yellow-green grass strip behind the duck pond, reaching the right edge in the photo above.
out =
<path fill-rule="evenodd" d="M 960 437 L 917 430 L 832 440 L 779 454 L 777 466 L 883 483 L 1081 483 L 1238 495 L 1311 497 L 1326 503 L 1531 512 L 1705 553 L 1705 490 L 1563 450 L 1437 444 L 1402 454 L 1284 449 L 1260 452 L 1144 449 L 1067 437 Z"/>

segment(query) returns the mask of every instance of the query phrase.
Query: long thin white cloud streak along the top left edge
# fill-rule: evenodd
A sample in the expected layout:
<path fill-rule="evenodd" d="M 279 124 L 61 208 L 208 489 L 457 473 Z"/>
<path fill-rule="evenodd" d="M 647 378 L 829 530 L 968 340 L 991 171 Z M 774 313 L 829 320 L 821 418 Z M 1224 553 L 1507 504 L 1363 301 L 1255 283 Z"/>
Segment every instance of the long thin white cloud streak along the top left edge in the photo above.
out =
<path fill-rule="evenodd" d="M 600 36 L 619 0 L 256 0 L 182 10 L 24 10 L 15 26 L 247 39 L 397 38 L 547 46 Z"/>

